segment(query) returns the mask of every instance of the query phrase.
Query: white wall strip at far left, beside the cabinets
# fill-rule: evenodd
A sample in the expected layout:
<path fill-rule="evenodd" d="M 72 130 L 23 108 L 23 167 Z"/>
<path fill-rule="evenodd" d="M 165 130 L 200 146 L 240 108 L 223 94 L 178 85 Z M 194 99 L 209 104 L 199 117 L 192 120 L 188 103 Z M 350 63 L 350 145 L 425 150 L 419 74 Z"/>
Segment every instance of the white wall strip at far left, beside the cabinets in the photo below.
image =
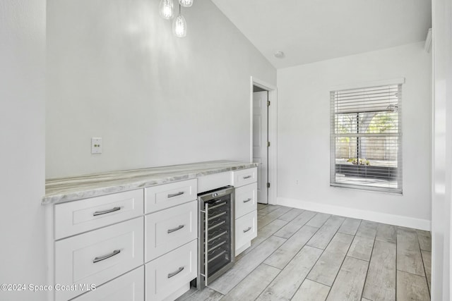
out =
<path fill-rule="evenodd" d="M 45 0 L 0 1 L 0 283 L 47 284 L 44 250 Z M 0 300 L 45 300 L 5 292 Z"/>

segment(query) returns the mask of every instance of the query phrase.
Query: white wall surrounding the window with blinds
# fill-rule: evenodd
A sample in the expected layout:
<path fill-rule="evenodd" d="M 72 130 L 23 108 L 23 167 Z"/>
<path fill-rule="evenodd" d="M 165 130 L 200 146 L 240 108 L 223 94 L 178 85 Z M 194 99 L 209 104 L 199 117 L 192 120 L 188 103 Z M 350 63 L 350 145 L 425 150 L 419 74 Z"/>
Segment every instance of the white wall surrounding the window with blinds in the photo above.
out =
<path fill-rule="evenodd" d="M 418 43 L 278 69 L 278 202 L 429 228 L 431 68 Z M 405 78 L 403 196 L 330 187 L 330 87 L 393 78 Z"/>

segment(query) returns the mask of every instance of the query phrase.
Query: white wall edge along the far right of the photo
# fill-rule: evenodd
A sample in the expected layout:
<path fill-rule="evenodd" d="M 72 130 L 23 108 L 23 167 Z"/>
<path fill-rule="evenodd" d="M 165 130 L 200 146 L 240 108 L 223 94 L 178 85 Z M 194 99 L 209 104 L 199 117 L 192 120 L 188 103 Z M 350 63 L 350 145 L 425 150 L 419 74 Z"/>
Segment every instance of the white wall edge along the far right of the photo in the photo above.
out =
<path fill-rule="evenodd" d="M 434 0 L 432 300 L 451 300 L 452 4 Z"/>

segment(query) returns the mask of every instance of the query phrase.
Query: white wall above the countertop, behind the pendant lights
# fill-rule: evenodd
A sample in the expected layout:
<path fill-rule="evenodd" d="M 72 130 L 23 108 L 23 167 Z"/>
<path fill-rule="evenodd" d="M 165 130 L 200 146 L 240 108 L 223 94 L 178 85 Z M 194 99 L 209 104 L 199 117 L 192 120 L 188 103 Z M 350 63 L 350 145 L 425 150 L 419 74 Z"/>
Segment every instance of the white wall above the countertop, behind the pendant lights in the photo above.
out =
<path fill-rule="evenodd" d="M 211 1 L 183 8 L 184 39 L 158 0 L 47 2 L 47 178 L 249 160 L 249 77 L 276 70 Z"/>

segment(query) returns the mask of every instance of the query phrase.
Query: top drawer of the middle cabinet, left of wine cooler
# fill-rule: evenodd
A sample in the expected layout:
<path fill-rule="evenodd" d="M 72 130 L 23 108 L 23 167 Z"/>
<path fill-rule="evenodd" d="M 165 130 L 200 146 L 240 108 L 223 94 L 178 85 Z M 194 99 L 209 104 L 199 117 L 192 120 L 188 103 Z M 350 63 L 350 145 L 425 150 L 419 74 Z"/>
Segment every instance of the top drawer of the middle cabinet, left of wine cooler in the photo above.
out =
<path fill-rule="evenodd" d="M 196 199 L 196 179 L 145 188 L 145 213 L 173 207 Z"/>

